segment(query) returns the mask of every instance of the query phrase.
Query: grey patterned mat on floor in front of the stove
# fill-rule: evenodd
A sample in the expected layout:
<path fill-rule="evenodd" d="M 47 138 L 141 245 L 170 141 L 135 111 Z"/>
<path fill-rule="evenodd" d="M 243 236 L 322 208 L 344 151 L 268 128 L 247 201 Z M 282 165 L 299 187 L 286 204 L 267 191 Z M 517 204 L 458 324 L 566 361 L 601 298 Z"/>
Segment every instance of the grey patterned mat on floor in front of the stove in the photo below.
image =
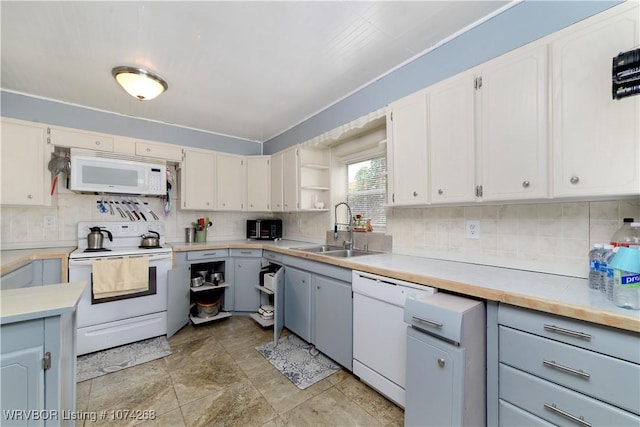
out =
<path fill-rule="evenodd" d="M 156 337 L 78 356 L 76 382 L 96 378 L 171 354 L 167 338 Z"/>

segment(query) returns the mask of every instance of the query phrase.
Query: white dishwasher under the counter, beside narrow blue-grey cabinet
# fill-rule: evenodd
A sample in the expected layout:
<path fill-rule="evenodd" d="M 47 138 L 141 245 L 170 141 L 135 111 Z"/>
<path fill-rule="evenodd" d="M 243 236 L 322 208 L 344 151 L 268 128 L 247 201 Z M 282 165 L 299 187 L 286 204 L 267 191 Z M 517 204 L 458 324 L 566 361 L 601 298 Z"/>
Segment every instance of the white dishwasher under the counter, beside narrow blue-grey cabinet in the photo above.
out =
<path fill-rule="evenodd" d="M 407 359 L 407 297 L 436 289 L 353 271 L 353 373 L 404 408 Z"/>

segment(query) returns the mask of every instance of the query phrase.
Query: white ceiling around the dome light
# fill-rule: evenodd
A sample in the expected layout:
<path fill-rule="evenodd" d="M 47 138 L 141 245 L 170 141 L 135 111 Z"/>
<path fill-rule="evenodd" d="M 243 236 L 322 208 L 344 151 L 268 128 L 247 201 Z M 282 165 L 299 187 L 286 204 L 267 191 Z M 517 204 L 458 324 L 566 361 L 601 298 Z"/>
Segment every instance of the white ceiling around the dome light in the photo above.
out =
<path fill-rule="evenodd" d="M 507 1 L 2 1 L 3 89 L 265 141 Z M 111 76 L 146 67 L 138 101 Z"/>

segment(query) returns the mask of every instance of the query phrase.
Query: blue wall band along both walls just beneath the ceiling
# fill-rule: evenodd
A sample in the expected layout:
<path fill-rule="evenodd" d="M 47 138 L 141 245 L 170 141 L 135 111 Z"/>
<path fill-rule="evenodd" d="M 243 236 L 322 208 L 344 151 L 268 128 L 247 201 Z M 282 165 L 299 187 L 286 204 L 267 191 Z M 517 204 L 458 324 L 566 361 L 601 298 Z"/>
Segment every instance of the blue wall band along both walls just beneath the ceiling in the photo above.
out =
<path fill-rule="evenodd" d="M 382 77 L 265 142 L 281 151 L 368 114 L 412 92 L 602 12 L 620 1 L 524 1 Z M 261 144 L 0 91 L 3 116 L 234 154 L 261 154 Z"/>

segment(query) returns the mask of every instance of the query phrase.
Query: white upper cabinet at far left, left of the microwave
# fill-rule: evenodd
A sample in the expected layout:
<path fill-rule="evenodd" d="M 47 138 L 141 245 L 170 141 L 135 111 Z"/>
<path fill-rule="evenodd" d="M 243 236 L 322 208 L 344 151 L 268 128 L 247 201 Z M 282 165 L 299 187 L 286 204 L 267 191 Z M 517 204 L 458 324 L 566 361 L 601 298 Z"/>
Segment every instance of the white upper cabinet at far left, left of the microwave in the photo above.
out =
<path fill-rule="evenodd" d="M 2 119 L 0 204 L 50 206 L 53 151 L 46 144 L 46 128 L 29 122 Z"/>

